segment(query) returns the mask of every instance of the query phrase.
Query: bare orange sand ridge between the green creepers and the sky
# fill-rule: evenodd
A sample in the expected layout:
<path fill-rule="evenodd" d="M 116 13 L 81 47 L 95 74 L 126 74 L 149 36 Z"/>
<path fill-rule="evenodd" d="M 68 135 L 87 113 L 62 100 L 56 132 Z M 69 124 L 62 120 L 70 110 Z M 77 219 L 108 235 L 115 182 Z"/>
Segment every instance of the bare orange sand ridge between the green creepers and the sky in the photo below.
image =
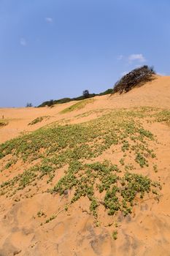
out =
<path fill-rule="evenodd" d="M 61 110 L 74 105 L 76 102 L 69 102 L 63 105 L 56 105 L 54 108 L 0 108 L 0 118 L 4 116 L 9 124 L 0 129 L 0 143 L 20 135 L 20 132 L 29 132 L 53 121 L 69 119 L 76 122 L 75 116 L 90 110 L 113 109 L 113 108 L 133 108 L 150 106 L 157 108 L 170 108 L 170 78 L 157 77 L 141 88 L 129 91 L 128 94 L 115 94 L 102 97 L 95 97 L 96 101 L 86 105 L 85 109 L 73 111 L 61 115 Z M 99 113 L 100 114 L 100 113 Z M 50 118 L 34 126 L 28 124 L 39 116 L 49 116 Z M 95 118 L 94 114 L 90 118 Z M 79 118 L 80 121 L 88 121 L 88 118 Z"/>

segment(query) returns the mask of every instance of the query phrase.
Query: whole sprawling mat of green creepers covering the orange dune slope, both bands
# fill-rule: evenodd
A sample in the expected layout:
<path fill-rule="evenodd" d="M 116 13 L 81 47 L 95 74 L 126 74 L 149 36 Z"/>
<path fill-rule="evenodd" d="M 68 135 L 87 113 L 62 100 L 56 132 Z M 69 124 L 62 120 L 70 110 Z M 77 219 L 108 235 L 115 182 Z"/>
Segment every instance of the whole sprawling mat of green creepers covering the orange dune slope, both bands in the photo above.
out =
<path fill-rule="evenodd" d="M 147 194 L 158 196 L 161 189 L 161 184 L 139 172 L 140 168 L 142 170 L 150 165 L 153 173 L 158 171 L 156 162 L 153 164 L 152 161 L 156 157 L 153 145 L 158 142 L 152 132 L 144 129 L 143 119 L 159 121 L 160 116 L 161 121 L 165 121 L 169 114 L 152 108 L 114 110 L 82 124 L 61 126 L 56 123 L 9 140 L 0 145 L 0 159 L 9 156 L 1 171 L 15 165 L 16 159 L 31 164 L 31 167 L 2 182 L 0 195 L 13 197 L 18 190 L 38 184 L 45 178 L 47 192 L 66 195 L 67 191 L 72 191 L 66 211 L 69 211 L 70 203 L 86 197 L 90 200 L 90 212 L 96 223 L 101 206 L 109 215 L 117 212 L 122 212 L 124 216 L 131 214 L 136 199 Z M 111 159 L 108 157 L 104 162 L 96 160 L 105 151 L 112 152 Z M 117 152 L 119 159 L 115 157 Z M 35 164 L 36 159 L 39 161 Z M 117 159 L 117 164 L 113 163 L 113 159 Z M 63 177 L 57 184 L 51 184 L 58 169 L 64 166 Z M 98 200 L 98 193 L 102 195 L 102 200 Z M 37 213 L 38 217 L 43 215 L 41 211 Z M 53 215 L 45 222 L 55 217 Z M 117 233 L 113 234 L 113 238 L 117 238 Z"/>

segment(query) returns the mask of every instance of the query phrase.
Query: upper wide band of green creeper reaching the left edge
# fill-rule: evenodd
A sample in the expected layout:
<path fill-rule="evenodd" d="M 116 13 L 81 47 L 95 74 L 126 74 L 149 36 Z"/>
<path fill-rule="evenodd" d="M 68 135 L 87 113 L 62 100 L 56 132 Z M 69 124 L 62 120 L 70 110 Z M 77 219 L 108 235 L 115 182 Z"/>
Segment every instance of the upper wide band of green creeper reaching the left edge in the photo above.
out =
<path fill-rule="evenodd" d="M 139 112 L 140 113 L 140 112 Z M 147 141 L 154 140 L 136 118 L 138 110 L 115 110 L 105 116 L 83 124 L 45 127 L 0 145 L 0 159 L 12 154 L 23 161 L 67 163 L 72 159 L 97 157 L 112 145 L 120 144 L 123 151 L 140 152 L 150 156 Z M 127 147 L 127 140 L 130 146 Z M 44 148 L 42 154 L 41 149 Z"/>

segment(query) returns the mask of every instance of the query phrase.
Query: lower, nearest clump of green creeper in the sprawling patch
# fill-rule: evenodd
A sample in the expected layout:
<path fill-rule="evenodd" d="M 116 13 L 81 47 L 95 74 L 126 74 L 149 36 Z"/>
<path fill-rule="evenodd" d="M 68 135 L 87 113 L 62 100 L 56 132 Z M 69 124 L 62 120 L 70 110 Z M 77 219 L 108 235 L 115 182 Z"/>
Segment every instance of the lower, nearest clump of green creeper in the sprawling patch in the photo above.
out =
<path fill-rule="evenodd" d="M 74 188 L 71 202 L 87 196 L 91 201 L 90 211 L 97 217 L 97 208 L 102 203 L 109 215 L 122 211 L 124 215 L 131 213 L 136 197 L 143 198 L 145 193 L 152 192 L 152 188 L 161 189 L 160 184 L 153 184 L 150 178 L 135 173 L 125 173 L 117 165 L 110 162 L 94 162 L 82 165 L 80 162 L 70 165 L 66 176 L 50 190 L 63 195 L 67 189 Z M 97 182 L 96 182 L 97 181 Z M 95 197 L 95 191 L 104 192 L 104 200 L 100 202 Z M 156 190 L 157 191 L 157 190 Z M 158 193 L 158 191 L 157 191 Z"/>

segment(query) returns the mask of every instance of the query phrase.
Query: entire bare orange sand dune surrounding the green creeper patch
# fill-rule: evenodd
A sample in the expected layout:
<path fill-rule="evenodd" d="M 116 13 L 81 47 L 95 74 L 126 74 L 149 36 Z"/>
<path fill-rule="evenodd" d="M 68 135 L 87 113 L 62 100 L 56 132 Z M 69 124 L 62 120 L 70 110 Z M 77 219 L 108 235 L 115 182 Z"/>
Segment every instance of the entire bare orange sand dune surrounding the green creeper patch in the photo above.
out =
<path fill-rule="evenodd" d="M 170 78 L 158 77 L 151 83 L 134 89 L 128 94 L 96 97 L 96 101 L 86 105 L 84 109 L 61 114 L 60 111 L 73 105 L 74 102 L 57 105 L 54 108 L 12 108 L 0 109 L 0 116 L 9 120 L 6 127 L 0 128 L 0 142 L 15 138 L 20 132 L 30 132 L 53 121 L 78 123 L 101 116 L 115 108 L 134 108 L 150 106 L 170 109 Z M 96 110 L 90 113 L 89 111 Z M 104 112 L 102 112 L 104 110 Z M 78 116 L 82 113 L 88 116 Z M 50 116 L 34 126 L 28 123 L 39 116 Z M 170 129 L 166 124 L 145 122 L 144 127 L 157 136 L 159 146 L 153 145 L 158 158 L 158 173 L 154 178 L 161 179 L 164 184 L 158 200 L 145 198 L 136 203 L 131 216 L 118 217 L 118 239 L 111 237 L 112 228 L 103 208 L 100 218 L 104 225 L 94 227 L 93 217 L 89 214 L 89 203 L 85 198 L 74 203 L 69 211 L 63 211 L 69 195 L 60 197 L 42 193 L 47 184 L 42 182 L 39 190 L 36 187 L 30 192 L 33 197 L 17 200 L 0 197 L 0 255 L 56 255 L 56 256 L 161 256 L 170 255 Z M 110 158 L 107 151 L 101 158 Z M 18 166 L 20 163 L 18 163 Z M 25 168 L 24 164 L 23 169 Z M 16 165 L 15 170 L 18 171 Z M 147 172 L 147 173 L 145 173 Z M 63 169 L 58 172 L 55 181 L 61 178 Z M 153 177 L 152 171 L 143 170 L 144 174 Z M 1 181 L 12 176 L 12 173 L 0 173 Z M 55 183 L 54 181 L 54 183 Z M 20 192 L 22 198 L 28 191 Z M 23 195 L 22 195 L 23 194 Z M 15 198 L 16 199 L 16 198 Z M 47 216 L 57 214 L 53 222 L 41 226 L 43 217 L 36 213 L 43 210 Z M 114 219 L 113 219 L 114 220 Z"/>

